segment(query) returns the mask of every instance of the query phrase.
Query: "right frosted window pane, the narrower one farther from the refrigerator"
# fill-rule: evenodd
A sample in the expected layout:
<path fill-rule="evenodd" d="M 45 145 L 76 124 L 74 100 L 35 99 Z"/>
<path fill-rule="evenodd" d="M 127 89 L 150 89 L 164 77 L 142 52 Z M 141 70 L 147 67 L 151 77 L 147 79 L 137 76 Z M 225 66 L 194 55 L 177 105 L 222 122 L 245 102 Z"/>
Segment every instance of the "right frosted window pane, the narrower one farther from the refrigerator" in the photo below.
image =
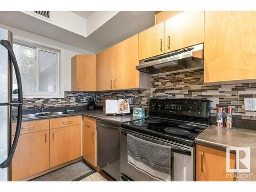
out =
<path fill-rule="evenodd" d="M 39 92 L 56 92 L 56 54 L 39 50 Z"/>

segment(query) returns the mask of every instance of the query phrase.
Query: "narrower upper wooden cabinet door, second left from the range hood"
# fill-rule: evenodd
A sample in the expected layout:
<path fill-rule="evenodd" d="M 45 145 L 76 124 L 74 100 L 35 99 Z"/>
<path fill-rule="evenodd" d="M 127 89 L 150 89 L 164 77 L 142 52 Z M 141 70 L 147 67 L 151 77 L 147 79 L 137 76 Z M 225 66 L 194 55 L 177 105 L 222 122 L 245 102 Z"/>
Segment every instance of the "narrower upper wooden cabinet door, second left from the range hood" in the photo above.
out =
<path fill-rule="evenodd" d="M 96 89 L 97 91 L 114 89 L 114 47 L 96 55 Z"/>

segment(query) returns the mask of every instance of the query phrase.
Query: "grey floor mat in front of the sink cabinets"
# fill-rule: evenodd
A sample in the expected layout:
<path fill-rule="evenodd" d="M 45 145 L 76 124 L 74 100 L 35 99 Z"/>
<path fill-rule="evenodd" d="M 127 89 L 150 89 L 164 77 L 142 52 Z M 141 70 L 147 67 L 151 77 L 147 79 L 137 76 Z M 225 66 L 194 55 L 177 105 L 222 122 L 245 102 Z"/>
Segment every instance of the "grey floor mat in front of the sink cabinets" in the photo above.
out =
<path fill-rule="evenodd" d="M 79 181 L 93 173 L 95 173 L 95 170 L 81 160 L 31 181 Z"/>

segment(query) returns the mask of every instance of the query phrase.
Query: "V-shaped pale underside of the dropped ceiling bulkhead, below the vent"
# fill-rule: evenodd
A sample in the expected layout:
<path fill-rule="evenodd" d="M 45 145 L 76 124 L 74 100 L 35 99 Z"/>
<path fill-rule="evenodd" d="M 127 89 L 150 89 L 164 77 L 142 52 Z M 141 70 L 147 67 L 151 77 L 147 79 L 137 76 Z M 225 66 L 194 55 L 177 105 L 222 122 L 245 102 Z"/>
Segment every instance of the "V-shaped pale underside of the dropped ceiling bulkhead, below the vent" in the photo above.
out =
<path fill-rule="evenodd" d="M 20 11 L 0 11 L 0 24 L 98 53 L 154 26 L 154 11 L 120 11 L 88 37 L 57 27 Z"/>

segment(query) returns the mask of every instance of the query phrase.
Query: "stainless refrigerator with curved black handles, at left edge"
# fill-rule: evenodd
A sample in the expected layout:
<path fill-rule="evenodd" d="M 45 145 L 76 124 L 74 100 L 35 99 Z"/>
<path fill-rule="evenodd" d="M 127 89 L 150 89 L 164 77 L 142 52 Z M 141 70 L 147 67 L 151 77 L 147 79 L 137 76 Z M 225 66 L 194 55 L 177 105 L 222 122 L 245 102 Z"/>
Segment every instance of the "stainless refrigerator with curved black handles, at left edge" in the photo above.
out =
<path fill-rule="evenodd" d="M 0 28 L 0 181 L 11 181 L 11 161 L 22 123 L 22 81 L 12 49 L 12 33 Z M 13 71 L 14 69 L 14 71 Z M 12 73 L 16 74 L 18 99 L 12 99 Z M 17 127 L 12 142 L 12 109 L 17 108 Z"/>

